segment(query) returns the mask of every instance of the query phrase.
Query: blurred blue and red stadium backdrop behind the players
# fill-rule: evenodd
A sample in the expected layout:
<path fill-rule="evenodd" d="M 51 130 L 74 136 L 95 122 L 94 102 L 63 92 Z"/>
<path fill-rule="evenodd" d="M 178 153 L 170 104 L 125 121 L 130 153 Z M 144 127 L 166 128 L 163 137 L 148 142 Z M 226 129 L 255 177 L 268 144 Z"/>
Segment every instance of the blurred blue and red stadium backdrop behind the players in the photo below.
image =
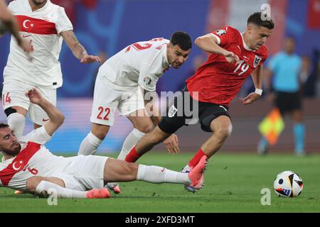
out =
<path fill-rule="evenodd" d="M 306 123 L 306 151 L 320 152 L 320 0 L 51 0 L 64 6 L 73 22 L 80 43 L 92 55 L 107 59 L 127 45 L 155 37 L 169 38 L 174 31 L 186 31 L 196 39 L 225 25 L 245 30 L 247 17 L 261 11 L 262 4 L 270 4 L 275 21 L 274 33 L 267 41 L 270 56 L 281 50 L 287 35 L 297 40 L 297 53 L 311 57 L 312 69 L 304 84 L 304 122 Z M 9 1 L 7 1 L 9 3 Z M 0 39 L 0 74 L 9 53 L 10 36 Z M 159 80 L 158 92 L 178 91 L 190 77 L 206 54 L 196 46 L 180 70 L 169 70 Z M 100 65 L 81 65 L 72 52 L 63 45 L 60 54 L 63 71 L 63 87 L 58 89 L 58 108 L 65 114 L 65 124 L 55 134 L 48 147 L 53 153 L 76 153 L 85 135 L 90 131 L 92 94 L 97 69 Z M 3 78 L 1 77 L 1 84 Z M 1 86 L 2 88 L 2 86 Z M 252 91 L 251 79 L 247 79 L 240 96 Z M 230 106 L 233 116 L 233 135 L 222 150 L 235 152 L 255 151 L 260 132 L 257 129 L 262 118 L 272 109 L 267 99 L 252 106 L 240 106 L 234 100 Z M 285 118 L 286 128 L 272 152 L 292 152 L 294 138 L 292 121 Z M 0 121 L 6 121 L 0 111 Z M 28 121 L 25 132 L 33 126 Z M 115 125 L 100 146 L 100 153 L 119 152 L 132 126 L 127 118 L 118 116 Z M 208 135 L 198 126 L 188 126 L 178 131 L 181 150 L 196 151 Z M 159 145 L 157 149 L 162 150 Z"/>

